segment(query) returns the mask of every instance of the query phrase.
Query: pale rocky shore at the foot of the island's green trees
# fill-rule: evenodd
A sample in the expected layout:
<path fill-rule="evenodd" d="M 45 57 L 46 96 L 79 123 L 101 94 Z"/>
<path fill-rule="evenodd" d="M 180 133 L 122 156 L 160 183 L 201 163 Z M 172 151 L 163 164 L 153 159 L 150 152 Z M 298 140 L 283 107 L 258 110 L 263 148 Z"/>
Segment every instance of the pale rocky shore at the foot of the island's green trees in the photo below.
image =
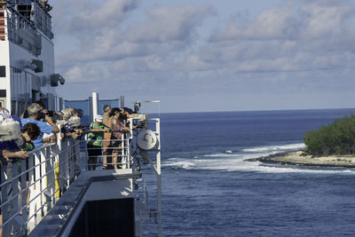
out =
<path fill-rule="evenodd" d="M 355 155 L 312 157 L 301 155 L 302 151 L 272 154 L 266 157 L 250 159 L 251 162 L 278 163 L 302 166 L 327 166 L 355 168 Z"/>

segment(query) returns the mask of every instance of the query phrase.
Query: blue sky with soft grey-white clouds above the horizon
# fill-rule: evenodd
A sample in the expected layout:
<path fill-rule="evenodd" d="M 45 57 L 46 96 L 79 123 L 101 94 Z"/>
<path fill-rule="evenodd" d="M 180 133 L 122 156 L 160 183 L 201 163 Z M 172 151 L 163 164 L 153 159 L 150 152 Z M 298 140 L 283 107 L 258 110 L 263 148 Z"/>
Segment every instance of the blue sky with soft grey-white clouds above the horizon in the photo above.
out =
<path fill-rule="evenodd" d="M 161 112 L 355 107 L 355 1 L 60 0 L 64 99 Z"/>

